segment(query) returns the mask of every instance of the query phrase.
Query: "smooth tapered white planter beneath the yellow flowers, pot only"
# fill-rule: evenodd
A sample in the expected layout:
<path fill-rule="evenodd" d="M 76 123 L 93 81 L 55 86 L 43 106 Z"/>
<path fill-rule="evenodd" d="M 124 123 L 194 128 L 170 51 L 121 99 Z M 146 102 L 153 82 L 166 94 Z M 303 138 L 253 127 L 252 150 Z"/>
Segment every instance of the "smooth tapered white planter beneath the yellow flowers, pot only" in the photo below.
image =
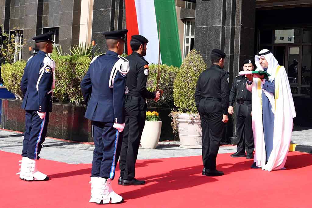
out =
<path fill-rule="evenodd" d="M 144 149 L 156 149 L 161 132 L 162 121 L 145 121 L 141 136 L 141 146 Z"/>

